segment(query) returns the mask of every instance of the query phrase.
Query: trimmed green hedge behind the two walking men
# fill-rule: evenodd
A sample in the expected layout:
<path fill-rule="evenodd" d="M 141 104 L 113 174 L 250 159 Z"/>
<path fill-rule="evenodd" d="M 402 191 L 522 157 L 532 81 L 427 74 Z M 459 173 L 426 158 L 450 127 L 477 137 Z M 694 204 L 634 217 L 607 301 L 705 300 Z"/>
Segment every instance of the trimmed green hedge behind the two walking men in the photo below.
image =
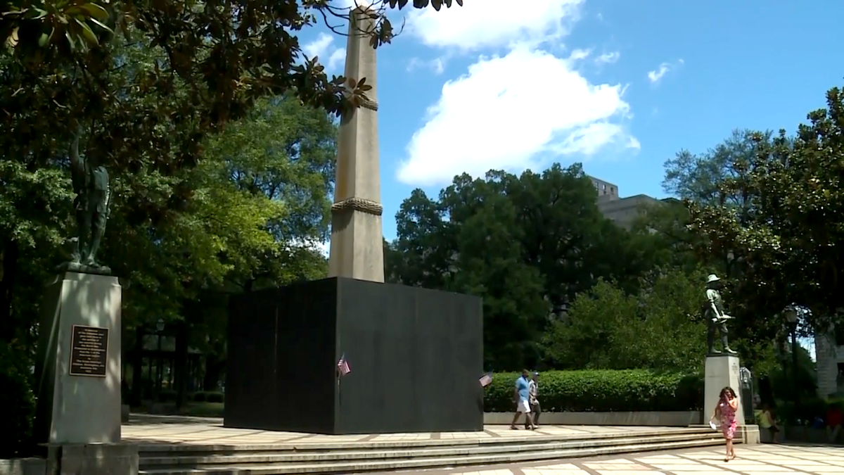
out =
<path fill-rule="evenodd" d="M 484 412 L 512 412 L 518 373 L 493 374 Z M 703 377 L 644 369 L 548 371 L 539 374 L 543 412 L 699 411 Z"/>

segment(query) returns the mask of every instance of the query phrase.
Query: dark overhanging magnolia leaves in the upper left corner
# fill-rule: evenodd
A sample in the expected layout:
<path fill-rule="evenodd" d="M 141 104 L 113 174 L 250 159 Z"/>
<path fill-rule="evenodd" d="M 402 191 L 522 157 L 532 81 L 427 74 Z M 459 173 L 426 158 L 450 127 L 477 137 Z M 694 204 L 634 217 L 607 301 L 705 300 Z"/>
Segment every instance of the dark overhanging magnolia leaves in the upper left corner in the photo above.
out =
<path fill-rule="evenodd" d="M 451 4 L 414 2 L 414 8 Z M 371 104 L 365 78 L 349 87 L 353 83 L 343 77 L 329 78 L 317 58 L 303 61 L 297 32 L 315 25 L 317 15 L 348 21 L 352 9 L 337 5 L 336 0 L 12 0 L 0 9 L 0 72 L 8 76 L 0 86 L 0 108 L 7 112 L 0 114 L 0 130 L 15 136 L 25 155 L 43 147 L 47 130 L 92 123 L 91 134 L 102 144 L 97 148 L 112 166 L 143 158 L 167 169 L 192 166 L 205 134 L 244 117 L 264 96 L 292 92 L 304 104 L 334 114 Z M 366 34 L 373 46 L 388 43 L 394 33 L 387 9 L 407 3 L 366 5 L 376 20 Z M 155 58 L 130 63 L 127 48 Z M 168 97 L 176 88 L 184 90 L 178 104 Z M 134 101 L 149 92 L 164 100 L 143 107 Z M 20 112 L 27 109 L 38 113 Z M 161 127 L 174 117 L 185 131 L 180 138 Z M 21 129 L 33 133 L 19 134 Z"/>

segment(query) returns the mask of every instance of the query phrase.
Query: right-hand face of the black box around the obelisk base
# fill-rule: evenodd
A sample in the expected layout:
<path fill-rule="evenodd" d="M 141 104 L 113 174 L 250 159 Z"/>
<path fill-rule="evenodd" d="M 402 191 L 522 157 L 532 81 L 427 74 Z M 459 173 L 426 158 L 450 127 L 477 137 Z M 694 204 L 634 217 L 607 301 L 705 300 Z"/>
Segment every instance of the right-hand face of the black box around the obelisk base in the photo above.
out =
<path fill-rule="evenodd" d="M 352 367 L 339 389 L 339 433 L 483 429 L 479 298 L 345 279 L 339 287 L 338 351 Z M 349 340 L 371 365 L 365 378 L 341 349 Z"/>

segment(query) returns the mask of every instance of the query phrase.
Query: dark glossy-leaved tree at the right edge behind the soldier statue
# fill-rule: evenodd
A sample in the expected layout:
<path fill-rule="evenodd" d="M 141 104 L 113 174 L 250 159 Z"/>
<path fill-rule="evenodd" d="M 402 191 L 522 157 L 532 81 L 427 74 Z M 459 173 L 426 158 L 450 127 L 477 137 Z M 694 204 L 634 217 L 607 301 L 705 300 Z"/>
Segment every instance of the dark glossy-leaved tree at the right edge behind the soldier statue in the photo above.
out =
<path fill-rule="evenodd" d="M 770 142 L 755 135 L 757 150 L 738 177 L 724 179 L 719 191 L 743 196 L 746 210 L 690 203 L 691 227 L 704 240 L 706 257 L 732 251 L 741 265 L 733 310 L 747 319 L 755 336 L 782 330 L 778 314 L 791 303 L 805 314 L 804 330 L 825 330 L 844 307 L 838 265 L 844 216 L 844 95 L 833 88 L 827 108 L 809 113 L 795 137 L 784 130 Z"/>

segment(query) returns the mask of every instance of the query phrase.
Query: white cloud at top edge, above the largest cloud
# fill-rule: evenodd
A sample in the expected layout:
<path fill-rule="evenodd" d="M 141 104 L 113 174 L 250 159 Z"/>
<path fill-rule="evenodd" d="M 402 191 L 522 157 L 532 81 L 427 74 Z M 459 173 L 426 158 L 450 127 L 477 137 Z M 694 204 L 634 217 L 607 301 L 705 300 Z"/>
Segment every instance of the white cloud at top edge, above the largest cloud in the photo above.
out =
<path fill-rule="evenodd" d="M 565 35 L 583 0 L 531 0 L 516 8 L 512 0 L 467 0 L 463 7 L 408 14 L 408 30 L 426 46 L 473 52 L 484 48 L 540 43 Z"/>

